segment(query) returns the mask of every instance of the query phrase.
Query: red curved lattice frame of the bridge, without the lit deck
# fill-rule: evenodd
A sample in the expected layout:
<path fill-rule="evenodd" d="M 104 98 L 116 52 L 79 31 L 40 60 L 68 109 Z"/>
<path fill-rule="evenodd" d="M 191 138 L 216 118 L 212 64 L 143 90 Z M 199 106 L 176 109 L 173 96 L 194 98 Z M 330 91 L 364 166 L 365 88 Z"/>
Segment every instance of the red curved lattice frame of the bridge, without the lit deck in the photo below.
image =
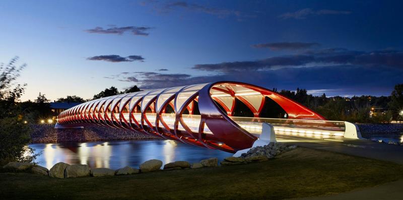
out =
<path fill-rule="evenodd" d="M 236 96 L 236 91 L 233 89 L 235 87 L 242 87 L 260 93 L 261 103 L 258 109 L 246 98 Z M 181 106 L 178 106 L 178 95 L 192 88 L 197 89 L 191 90 L 189 92 L 191 95 L 186 97 L 187 99 Z M 173 89 L 175 88 L 142 91 L 92 100 L 61 112 L 58 116 L 58 124 L 65 127 L 101 125 L 122 128 L 186 144 L 236 152 L 250 148 L 257 138 L 230 118 L 236 106 L 235 99 L 244 103 L 253 112 L 254 117 L 259 116 L 265 97 L 268 97 L 279 104 L 287 112 L 290 119 L 326 120 L 318 113 L 279 93 L 250 84 L 215 82 L 183 86 L 179 90 L 176 89 L 176 92 L 169 93 Z M 212 97 L 212 90 L 229 95 L 232 106 L 227 106 L 218 97 Z M 151 97 L 148 101 L 144 98 L 147 95 Z M 161 100 L 161 95 L 165 95 L 168 98 L 164 102 L 158 102 L 158 100 Z M 192 115 L 196 103 L 200 112 L 199 116 Z M 225 112 L 219 108 L 217 103 L 225 109 Z M 142 105 L 145 105 L 144 108 L 139 110 Z M 159 105 L 159 109 L 157 105 Z M 168 105 L 174 109 L 175 122 L 173 127 L 166 123 L 163 116 Z M 148 117 L 147 110 L 149 108 L 152 110 L 152 114 L 156 116 L 155 118 Z M 189 116 L 200 117 L 197 131 L 190 129 L 183 119 L 183 113 L 186 110 L 189 112 Z M 141 114 L 141 119 L 136 119 L 134 113 Z M 115 114 L 118 116 L 115 116 Z M 128 118 L 125 117 L 125 114 L 128 115 Z M 151 122 L 155 122 L 155 125 Z M 179 129 L 179 124 L 183 129 Z M 211 133 L 204 132 L 206 127 L 210 129 Z"/>

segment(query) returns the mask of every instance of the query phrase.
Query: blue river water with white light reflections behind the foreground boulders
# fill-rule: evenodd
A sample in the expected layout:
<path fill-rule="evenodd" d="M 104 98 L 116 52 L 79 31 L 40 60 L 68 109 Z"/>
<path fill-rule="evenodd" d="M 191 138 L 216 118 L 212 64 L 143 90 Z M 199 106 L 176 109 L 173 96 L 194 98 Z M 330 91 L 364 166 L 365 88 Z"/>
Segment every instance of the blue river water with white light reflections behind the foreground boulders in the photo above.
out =
<path fill-rule="evenodd" d="M 139 167 L 150 159 L 159 159 L 164 164 L 184 160 L 190 163 L 217 157 L 223 159 L 232 154 L 190 146 L 174 141 L 108 141 L 69 142 L 57 144 L 31 144 L 35 153 L 42 154 L 35 160 L 50 169 L 58 162 L 87 164 L 91 168 L 118 169 L 124 166 Z"/>

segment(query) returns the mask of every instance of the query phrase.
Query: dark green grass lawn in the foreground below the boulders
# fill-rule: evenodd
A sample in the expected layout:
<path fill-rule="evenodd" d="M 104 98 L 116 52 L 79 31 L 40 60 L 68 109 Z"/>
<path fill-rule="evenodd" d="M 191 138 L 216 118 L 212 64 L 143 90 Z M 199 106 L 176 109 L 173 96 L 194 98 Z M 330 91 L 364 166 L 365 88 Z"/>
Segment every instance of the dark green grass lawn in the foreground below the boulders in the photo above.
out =
<path fill-rule="evenodd" d="M 402 165 L 297 148 L 246 165 L 115 177 L 57 179 L 0 173 L 2 199 L 282 199 L 371 187 L 403 177 Z"/>

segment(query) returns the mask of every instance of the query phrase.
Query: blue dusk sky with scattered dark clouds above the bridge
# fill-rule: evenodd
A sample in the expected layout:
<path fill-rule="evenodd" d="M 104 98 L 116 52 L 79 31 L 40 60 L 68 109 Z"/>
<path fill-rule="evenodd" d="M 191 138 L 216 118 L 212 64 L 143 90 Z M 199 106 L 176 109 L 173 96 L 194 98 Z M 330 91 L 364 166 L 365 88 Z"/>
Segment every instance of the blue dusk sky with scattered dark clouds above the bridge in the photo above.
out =
<path fill-rule="evenodd" d="M 403 83 L 402 1 L 9 1 L 22 100 L 239 81 L 327 96 Z"/>

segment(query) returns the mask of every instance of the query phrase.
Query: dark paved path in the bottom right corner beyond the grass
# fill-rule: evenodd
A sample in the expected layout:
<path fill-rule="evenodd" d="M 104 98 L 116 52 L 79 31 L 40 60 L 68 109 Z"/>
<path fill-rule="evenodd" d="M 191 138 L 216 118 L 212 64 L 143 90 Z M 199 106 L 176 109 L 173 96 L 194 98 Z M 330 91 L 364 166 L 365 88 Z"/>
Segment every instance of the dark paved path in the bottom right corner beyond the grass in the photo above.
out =
<path fill-rule="evenodd" d="M 401 200 L 403 199 L 403 180 L 388 182 L 375 187 L 340 193 L 330 196 L 298 198 L 298 200 Z"/>

